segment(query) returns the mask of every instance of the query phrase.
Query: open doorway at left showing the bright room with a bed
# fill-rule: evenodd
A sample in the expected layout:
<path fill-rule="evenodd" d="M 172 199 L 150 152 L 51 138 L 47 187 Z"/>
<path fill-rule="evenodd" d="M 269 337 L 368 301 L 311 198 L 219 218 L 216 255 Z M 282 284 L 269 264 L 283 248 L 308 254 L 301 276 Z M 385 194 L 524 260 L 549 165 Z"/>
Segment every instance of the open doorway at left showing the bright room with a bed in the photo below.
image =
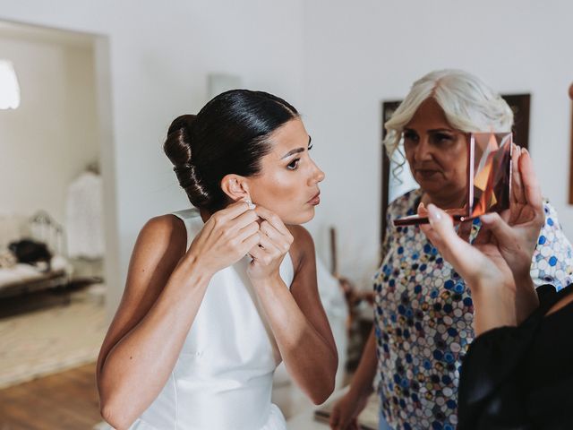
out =
<path fill-rule="evenodd" d="M 20 96 L 0 109 L 5 388 L 97 357 L 115 181 L 107 38 L 0 22 L 0 61 Z"/>

